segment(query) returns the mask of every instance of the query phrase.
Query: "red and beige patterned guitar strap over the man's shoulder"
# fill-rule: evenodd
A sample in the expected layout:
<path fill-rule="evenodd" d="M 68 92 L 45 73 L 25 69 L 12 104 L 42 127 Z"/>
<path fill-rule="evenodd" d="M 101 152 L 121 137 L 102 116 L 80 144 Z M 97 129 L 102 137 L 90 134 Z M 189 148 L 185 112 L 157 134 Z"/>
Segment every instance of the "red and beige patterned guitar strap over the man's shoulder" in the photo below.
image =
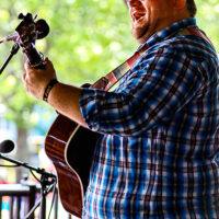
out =
<path fill-rule="evenodd" d="M 197 26 L 184 28 L 177 35 L 178 36 L 180 35 L 198 36 L 198 37 L 205 39 L 214 48 L 210 39 Z M 120 66 L 118 66 L 113 71 L 107 73 L 105 77 L 102 77 L 101 79 L 99 79 L 94 84 L 91 85 L 91 88 L 108 91 L 116 82 L 118 82 L 134 67 L 134 65 L 136 64 L 138 58 L 147 49 L 149 49 L 149 46 L 147 44 L 145 44 L 130 58 L 128 58 Z"/>

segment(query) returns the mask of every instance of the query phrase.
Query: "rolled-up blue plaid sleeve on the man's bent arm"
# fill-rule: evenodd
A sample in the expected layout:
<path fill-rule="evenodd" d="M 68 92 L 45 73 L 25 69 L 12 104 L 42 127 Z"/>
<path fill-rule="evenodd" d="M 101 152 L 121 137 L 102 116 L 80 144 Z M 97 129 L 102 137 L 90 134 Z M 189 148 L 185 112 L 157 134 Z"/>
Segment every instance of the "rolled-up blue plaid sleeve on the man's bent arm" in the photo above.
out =
<path fill-rule="evenodd" d="M 80 108 L 87 125 L 135 136 L 170 119 L 200 88 L 198 61 L 166 47 L 146 53 L 116 91 L 83 89 Z"/>

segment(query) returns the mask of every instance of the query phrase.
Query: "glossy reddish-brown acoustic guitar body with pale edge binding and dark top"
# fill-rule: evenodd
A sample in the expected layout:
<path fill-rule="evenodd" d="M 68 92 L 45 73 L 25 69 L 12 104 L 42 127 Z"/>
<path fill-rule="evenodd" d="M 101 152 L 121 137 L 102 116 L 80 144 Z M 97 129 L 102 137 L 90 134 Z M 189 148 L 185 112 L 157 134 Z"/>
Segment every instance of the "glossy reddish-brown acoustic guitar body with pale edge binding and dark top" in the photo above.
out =
<path fill-rule="evenodd" d="M 54 163 L 64 208 L 81 217 L 83 197 L 99 134 L 58 115 L 45 139 L 45 151 Z"/>

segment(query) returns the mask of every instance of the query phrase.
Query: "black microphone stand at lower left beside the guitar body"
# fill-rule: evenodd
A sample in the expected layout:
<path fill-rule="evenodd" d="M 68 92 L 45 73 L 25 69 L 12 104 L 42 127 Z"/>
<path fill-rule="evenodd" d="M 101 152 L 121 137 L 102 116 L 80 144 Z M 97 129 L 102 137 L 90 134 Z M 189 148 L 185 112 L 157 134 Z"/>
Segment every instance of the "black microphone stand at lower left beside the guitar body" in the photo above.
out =
<path fill-rule="evenodd" d="M 7 160 L 11 163 L 14 163 L 15 166 L 23 166 L 23 168 L 28 169 L 30 171 L 35 171 L 35 172 L 41 174 L 41 181 L 39 181 L 41 182 L 41 199 L 33 207 L 33 209 L 30 211 L 30 214 L 27 214 L 25 219 L 28 219 L 28 217 L 38 207 L 38 205 L 41 205 L 41 217 L 39 217 L 39 219 L 46 219 L 46 195 L 56 185 L 56 182 L 57 182 L 56 175 L 54 175 L 53 173 L 46 172 L 44 169 L 34 168 L 34 166 L 30 165 L 28 163 L 11 159 L 9 157 L 2 155 L 1 153 L 0 153 L 0 159 Z"/>

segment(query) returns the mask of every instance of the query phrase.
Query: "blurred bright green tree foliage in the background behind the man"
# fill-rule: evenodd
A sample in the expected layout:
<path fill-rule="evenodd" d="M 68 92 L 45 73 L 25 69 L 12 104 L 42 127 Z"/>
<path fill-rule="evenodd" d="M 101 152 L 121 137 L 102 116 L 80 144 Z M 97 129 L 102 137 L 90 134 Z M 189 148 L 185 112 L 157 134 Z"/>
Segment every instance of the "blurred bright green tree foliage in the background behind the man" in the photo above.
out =
<path fill-rule="evenodd" d="M 218 48 L 217 0 L 199 0 L 197 4 L 198 24 Z M 38 14 L 39 19 L 48 22 L 50 33 L 36 42 L 36 46 L 53 60 L 58 78 L 64 82 L 78 85 L 94 82 L 124 61 L 138 46 L 131 38 L 128 10 L 123 0 L 3 1 L 0 9 L 0 38 L 14 32 L 20 22 L 20 12 Z M 0 46 L 0 65 L 12 45 L 11 42 Z M 19 53 L 0 78 L 0 118 L 16 124 L 16 159 L 21 160 L 28 158 L 26 137 L 30 130 L 37 127 L 43 116 L 49 119 L 47 113 L 42 115 L 41 112 L 39 115 L 34 111 L 35 105 L 55 115 L 45 103 L 32 99 L 24 91 L 21 79 L 24 60 L 25 56 Z"/>

